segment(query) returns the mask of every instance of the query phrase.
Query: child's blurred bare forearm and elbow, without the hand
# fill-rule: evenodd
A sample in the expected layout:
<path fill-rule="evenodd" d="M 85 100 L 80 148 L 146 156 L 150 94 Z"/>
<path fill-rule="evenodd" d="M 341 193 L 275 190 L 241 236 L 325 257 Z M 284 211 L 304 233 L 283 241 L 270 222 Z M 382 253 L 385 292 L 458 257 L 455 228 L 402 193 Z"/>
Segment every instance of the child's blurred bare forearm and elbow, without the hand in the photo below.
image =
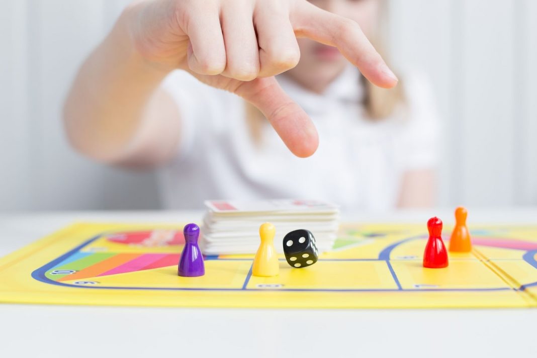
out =
<path fill-rule="evenodd" d="M 177 108 L 158 89 L 175 66 L 149 61 L 136 48 L 133 23 L 142 16 L 140 5 L 126 9 L 86 59 L 64 105 L 72 145 L 102 162 L 154 164 L 179 138 Z"/>

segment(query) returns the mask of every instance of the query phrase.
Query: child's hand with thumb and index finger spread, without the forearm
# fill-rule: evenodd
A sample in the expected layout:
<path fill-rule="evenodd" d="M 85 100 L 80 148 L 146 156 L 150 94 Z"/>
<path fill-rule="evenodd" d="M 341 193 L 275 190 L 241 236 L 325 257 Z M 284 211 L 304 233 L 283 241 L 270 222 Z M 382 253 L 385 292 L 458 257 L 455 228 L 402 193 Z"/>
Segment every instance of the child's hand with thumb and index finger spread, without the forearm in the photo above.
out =
<path fill-rule="evenodd" d="M 250 101 L 300 157 L 315 152 L 317 132 L 272 77 L 299 61 L 297 36 L 336 46 L 378 86 L 397 83 L 357 23 L 306 0 L 148 0 L 126 14 L 147 61 Z"/>

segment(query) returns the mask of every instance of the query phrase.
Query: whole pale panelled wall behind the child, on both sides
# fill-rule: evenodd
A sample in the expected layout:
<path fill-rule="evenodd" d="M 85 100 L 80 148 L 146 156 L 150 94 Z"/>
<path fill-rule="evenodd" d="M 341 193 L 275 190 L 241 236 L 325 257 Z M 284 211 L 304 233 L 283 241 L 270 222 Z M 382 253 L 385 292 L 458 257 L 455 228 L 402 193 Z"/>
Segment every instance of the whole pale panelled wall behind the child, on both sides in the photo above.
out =
<path fill-rule="evenodd" d="M 152 173 L 78 156 L 60 120 L 126 3 L 0 3 L 0 210 L 158 208 Z M 444 119 L 441 204 L 537 204 L 537 1 L 391 0 L 389 12 L 393 62 L 430 76 Z"/>

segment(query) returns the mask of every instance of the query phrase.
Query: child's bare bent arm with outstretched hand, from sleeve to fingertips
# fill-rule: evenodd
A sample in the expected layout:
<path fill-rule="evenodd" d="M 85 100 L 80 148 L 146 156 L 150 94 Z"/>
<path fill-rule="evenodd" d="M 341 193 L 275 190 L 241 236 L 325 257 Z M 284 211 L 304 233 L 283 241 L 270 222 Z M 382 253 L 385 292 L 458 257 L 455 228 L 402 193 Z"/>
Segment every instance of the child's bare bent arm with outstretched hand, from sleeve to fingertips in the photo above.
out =
<path fill-rule="evenodd" d="M 295 155 L 309 156 L 315 127 L 273 77 L 298 62 L 296 36 L 337 46 L 376 85 L 397 83 L 354 21 L 306 0 L 146 0 L 124 11 L 82 65 L 64 106 L 68 136 L 104 162 L 169 157 L 179 109 L 158 85 L 179 68 L 250 101 Z"/>

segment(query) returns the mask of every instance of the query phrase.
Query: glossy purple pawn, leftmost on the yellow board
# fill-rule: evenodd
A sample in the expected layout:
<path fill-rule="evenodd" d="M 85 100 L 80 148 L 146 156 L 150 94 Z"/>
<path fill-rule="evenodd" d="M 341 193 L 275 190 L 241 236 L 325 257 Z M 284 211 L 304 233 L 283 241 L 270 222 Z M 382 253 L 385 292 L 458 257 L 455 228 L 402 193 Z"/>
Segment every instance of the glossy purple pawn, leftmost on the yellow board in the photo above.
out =
<path fill-rule="evenodd" d="M 205 275 L 203 255 L 198 246 L 200 228 L 196 224 L 187 224 L 183 229 L 185 235 L 185 247 L 179 259 L 177 274 L 184 277 L 196 277 Z"/>

